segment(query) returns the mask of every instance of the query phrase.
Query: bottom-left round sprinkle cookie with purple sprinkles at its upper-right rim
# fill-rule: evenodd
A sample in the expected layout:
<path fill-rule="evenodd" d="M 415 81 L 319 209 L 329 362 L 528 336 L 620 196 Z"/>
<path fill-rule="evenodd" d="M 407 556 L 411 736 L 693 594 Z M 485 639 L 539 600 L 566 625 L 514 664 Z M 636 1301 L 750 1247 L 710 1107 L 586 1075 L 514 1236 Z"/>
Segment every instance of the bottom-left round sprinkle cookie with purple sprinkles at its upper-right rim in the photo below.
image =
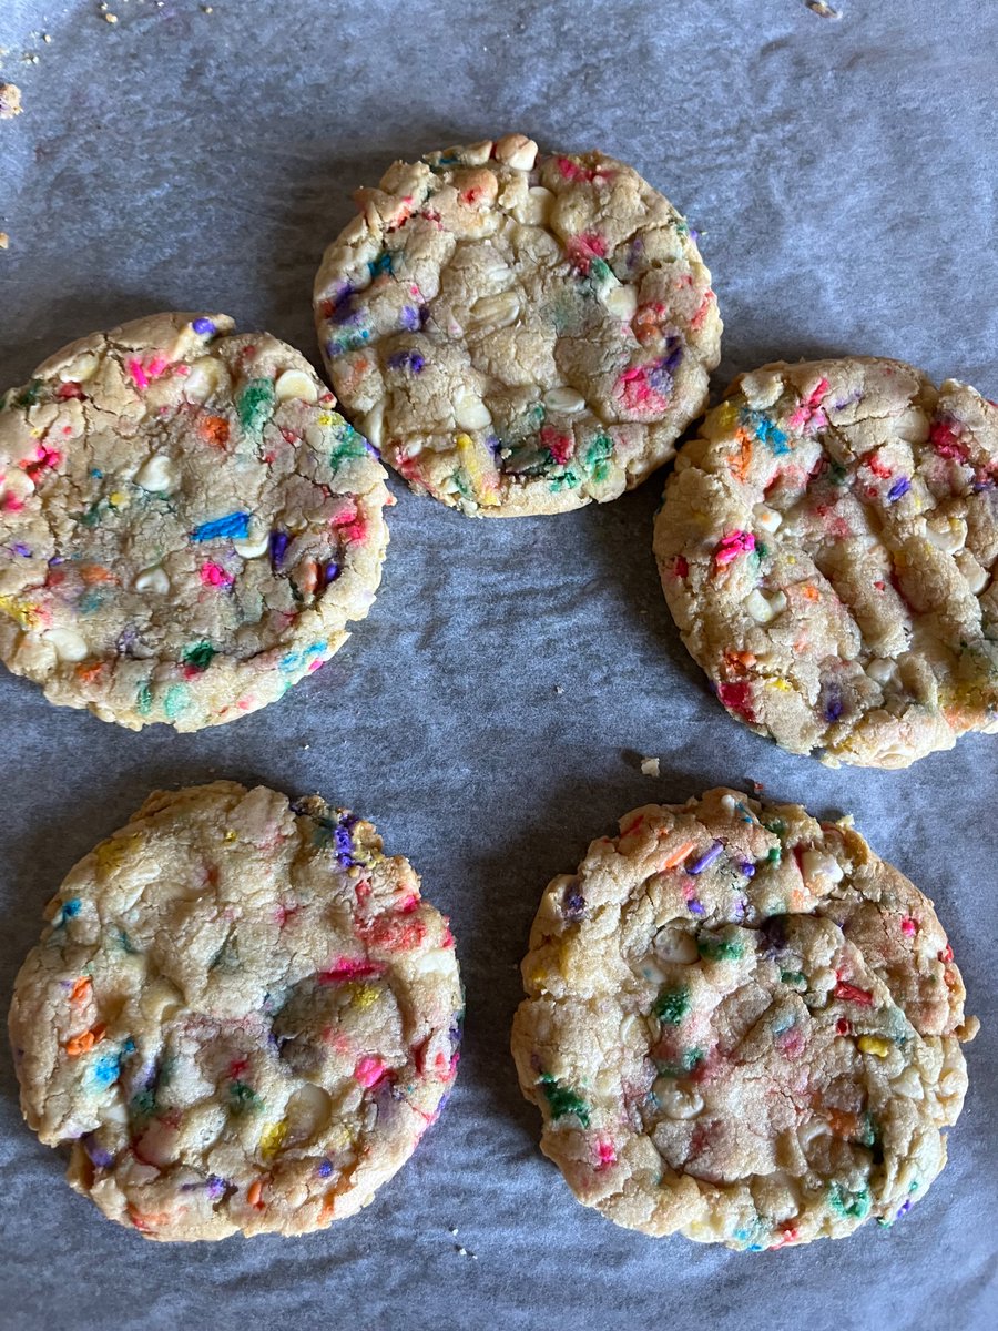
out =
<path fill-rule="evenodd" d="M 15 984 L 29 1126 L 150 1239 L 366 1206 L 442 1109 L 447 921 L 370 823 L 232 781 L 157 792 L 71 870 Z"/>

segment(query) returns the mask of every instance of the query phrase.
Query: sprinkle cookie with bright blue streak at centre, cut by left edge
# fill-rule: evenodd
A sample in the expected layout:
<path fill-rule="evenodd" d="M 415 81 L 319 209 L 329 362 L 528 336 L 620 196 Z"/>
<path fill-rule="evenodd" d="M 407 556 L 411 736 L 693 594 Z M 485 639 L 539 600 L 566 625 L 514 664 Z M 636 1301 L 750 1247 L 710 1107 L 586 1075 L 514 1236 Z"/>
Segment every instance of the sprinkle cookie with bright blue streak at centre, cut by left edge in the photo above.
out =
<path fill-rule="evenodd" d="M 374 600 L 383 467 L 298 351 L 232 330 L 153 315 L 0 397 L 0 659 L 53 703 L 217 725 Z"/>

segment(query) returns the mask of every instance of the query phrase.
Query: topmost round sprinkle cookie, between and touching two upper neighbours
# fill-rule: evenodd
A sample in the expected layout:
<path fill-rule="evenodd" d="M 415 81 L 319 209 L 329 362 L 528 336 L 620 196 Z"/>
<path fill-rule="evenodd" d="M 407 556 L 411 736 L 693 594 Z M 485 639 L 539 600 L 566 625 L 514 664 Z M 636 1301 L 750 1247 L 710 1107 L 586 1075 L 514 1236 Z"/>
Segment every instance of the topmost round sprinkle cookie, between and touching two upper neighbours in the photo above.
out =
<path fill-rule="evenodd" d="M 315 318 L 358 430 L 479 516 L 615 499 L 703 410 L 721 321 L 693 233 L 633 168 L 507 134 L 357 192 Z"/>

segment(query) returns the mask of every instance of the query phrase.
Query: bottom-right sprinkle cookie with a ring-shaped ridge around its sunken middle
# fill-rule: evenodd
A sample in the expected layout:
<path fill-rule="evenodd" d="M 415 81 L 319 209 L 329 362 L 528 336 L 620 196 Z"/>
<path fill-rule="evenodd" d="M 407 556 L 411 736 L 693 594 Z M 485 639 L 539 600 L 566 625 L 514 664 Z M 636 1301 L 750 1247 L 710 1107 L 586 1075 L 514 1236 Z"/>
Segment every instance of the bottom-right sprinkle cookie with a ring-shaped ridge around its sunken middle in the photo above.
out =
<path fill-rule="evenodd" d="M 542 1150 L 617 1225 L 733 1248 L 890 1225 L 966 1091 L 931 902 L 850 820 L 709 791 L 547 888 L 512 1030 Z"/>

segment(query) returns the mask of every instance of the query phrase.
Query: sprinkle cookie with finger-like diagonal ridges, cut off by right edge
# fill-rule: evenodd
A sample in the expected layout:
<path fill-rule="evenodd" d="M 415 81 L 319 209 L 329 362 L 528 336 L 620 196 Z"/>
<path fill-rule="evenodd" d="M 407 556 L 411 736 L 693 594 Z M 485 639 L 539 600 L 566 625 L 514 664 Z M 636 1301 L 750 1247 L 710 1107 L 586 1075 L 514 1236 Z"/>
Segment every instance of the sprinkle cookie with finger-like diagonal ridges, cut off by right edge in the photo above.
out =
<path fill-rule="evenodd" d="M 683 449 L 665 599 L 728 711 L 830 765 L 998 729 L 998 406 L 900 361 L 769 365 Z"/>

